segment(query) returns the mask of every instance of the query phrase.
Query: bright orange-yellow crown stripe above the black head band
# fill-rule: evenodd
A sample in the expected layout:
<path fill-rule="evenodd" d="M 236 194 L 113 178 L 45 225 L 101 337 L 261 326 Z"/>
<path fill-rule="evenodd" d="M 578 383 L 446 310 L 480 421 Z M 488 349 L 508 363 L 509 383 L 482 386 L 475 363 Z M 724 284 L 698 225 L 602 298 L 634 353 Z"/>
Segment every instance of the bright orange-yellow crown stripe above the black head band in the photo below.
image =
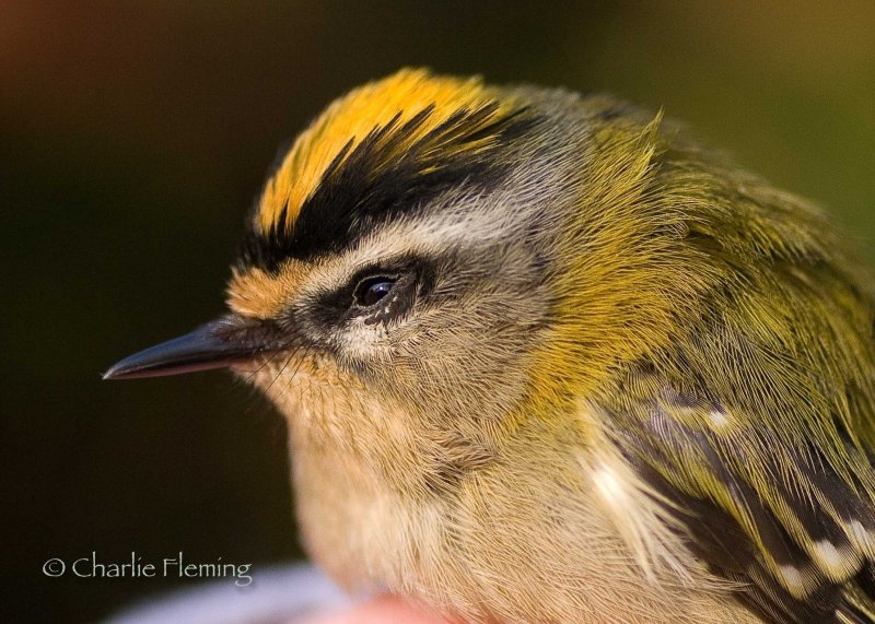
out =
<path fill-rule="evenodd" d="M 418 113 L 431 114 L 410 136 L 409 143 L 428 134 L 462 108 L 474 109 L 494 101 L 479 78 L 434 76 L 422 69 L 402 69 L 361 86 L 335 101 L 295 140 L 260 200 L 257 225 L 261 232 L 289 231 L 301 208 L 319 186 L 323 174 L 348 145 L 349 153 L 374 128 L 398 117 L 401 127 Z M 510 107 L 499 103 L 499 111 Z M 409 144 L 408 143 L 408 144 Z M 279 223 L 285 208 L 285 223 Z"/>

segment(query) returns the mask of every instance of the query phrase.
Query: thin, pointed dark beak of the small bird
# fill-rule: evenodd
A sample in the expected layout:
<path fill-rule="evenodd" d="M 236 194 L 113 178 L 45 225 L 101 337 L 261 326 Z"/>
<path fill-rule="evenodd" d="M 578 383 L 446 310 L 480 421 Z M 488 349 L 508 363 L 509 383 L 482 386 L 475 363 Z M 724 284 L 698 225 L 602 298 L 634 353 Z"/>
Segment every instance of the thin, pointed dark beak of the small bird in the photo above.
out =
<path fill-rule="evenodd" d="M 136 379 L 224 368 L 272 351 L 262 327 L 229 315 L 114 364 L 104 379 Z"/>

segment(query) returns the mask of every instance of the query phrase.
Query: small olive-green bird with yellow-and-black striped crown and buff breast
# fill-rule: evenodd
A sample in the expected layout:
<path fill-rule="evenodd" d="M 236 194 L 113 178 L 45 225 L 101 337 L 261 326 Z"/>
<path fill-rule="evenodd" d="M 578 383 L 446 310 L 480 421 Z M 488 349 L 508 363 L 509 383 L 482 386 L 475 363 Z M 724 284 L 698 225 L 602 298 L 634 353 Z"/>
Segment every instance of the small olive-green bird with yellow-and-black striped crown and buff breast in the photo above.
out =
<path fill-rule="evenodd" d="M 230 368 L 308 555 L 468 623 L 875 622 L 875 282 L 812 202 L 611 95 L 408 68 L 269 174 Z"/>

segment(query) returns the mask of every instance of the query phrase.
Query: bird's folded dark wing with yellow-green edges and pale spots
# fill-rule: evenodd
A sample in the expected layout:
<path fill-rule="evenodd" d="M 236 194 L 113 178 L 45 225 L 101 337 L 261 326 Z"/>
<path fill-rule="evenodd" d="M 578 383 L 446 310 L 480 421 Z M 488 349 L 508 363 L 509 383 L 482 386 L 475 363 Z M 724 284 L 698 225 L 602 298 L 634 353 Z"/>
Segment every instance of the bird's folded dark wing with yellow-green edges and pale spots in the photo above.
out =
<path fill-rule="evenodd" d="M 728 397 L 679 390 L 653 366 L 634 377 L 608 419 L 696 556 L 771 622 L 875 622 L 871 457 L 847 441 L 832 452 L 794 444 Z"/>

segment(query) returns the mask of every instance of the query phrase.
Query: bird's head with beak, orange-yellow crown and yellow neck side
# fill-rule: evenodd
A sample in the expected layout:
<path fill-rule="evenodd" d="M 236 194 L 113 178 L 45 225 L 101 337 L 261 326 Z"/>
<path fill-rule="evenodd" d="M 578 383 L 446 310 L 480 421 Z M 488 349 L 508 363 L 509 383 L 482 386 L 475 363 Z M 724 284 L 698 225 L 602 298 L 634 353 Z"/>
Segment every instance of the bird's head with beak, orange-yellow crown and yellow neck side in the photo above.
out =
<path fill-rule="evenodd" d="M 653 192 L 655 123 L 581 103 L 418 70 L 351 92 L 267 181 L 229 313 L 106 377 L 231 366 L 326 431 L 399 412 L 446 439 L 597 387 L 702 272 Z"/>

